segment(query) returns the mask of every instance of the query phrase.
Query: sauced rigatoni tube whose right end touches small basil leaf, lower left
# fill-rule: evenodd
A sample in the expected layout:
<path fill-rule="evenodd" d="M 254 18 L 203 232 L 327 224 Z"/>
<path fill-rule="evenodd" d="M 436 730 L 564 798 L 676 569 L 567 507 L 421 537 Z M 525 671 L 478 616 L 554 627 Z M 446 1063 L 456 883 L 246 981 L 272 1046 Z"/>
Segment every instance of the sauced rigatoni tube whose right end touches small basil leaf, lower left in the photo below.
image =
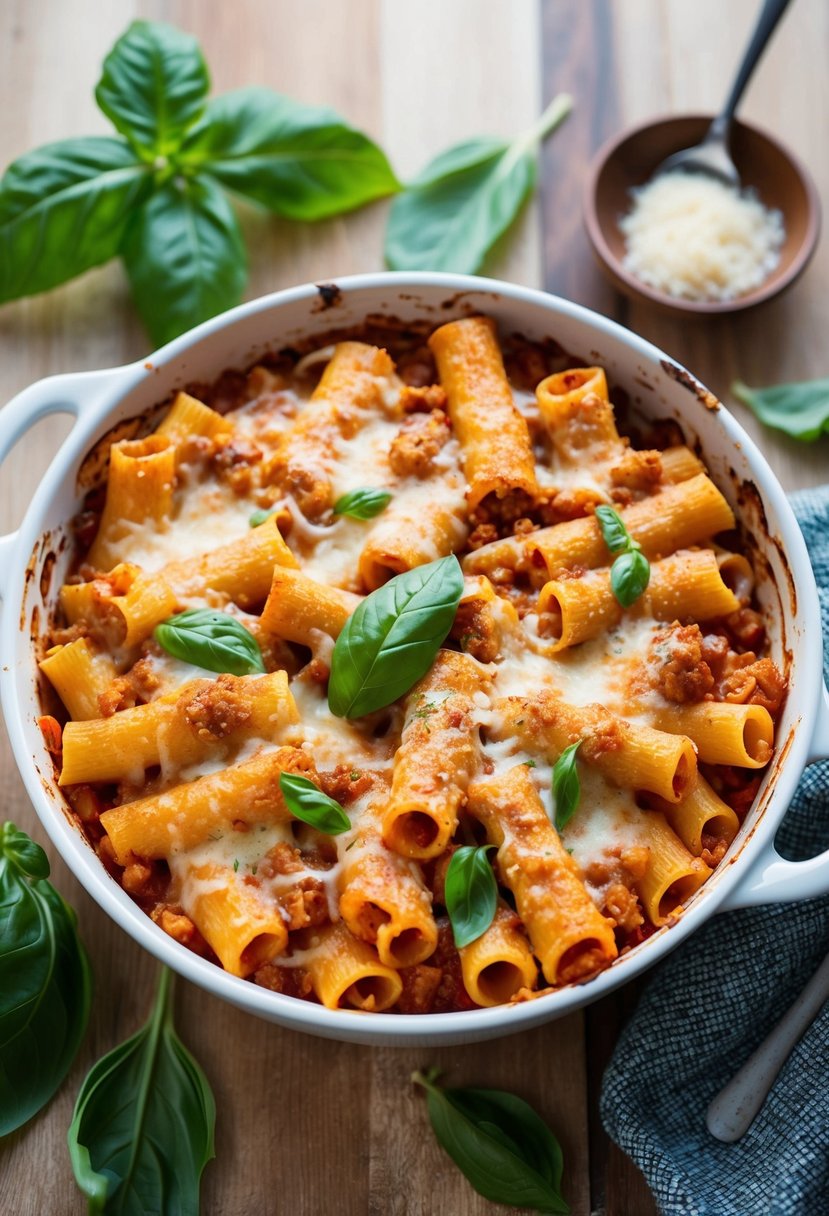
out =
<path fill-rule="evenodd" d="M 292 818 L 280 776 L 310 776 L 314 764 L 299 748 L 277 748 L 220 772 L 125 803 L 101 816 L 119 866 L 139 857 L 169 857 L 193 849 L 235 823 L 282 823 Z"/>

